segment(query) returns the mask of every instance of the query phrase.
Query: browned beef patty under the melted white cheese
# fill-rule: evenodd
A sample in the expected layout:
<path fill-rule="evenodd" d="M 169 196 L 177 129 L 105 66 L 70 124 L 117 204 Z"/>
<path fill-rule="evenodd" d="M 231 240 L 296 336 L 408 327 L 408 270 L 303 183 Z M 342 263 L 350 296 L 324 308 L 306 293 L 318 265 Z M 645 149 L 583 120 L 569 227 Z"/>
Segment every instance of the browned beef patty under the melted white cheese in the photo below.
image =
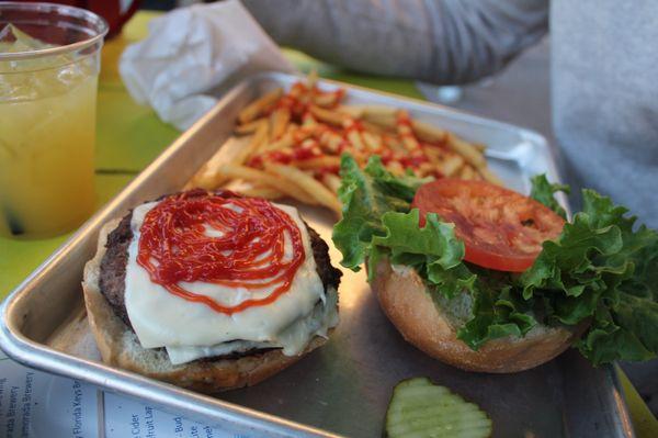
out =
<path fill-rule="evenodd" d="M 206 192 L 198 190 L 198 195 L 206 195 Z M 238 198 L 239 195 L 231 192 L 218 192 L 224 198 Z M 159 200 L 166 196 L 160 198 Z M 100 289 L 107 302 L 114 308 L 116 315 L 133 329 L 125 303 L 125 283 L 126 283 L 126 265 L 128 262 L 128 246 L 133 239 L 133 231 L 131 229 L 131 221 L 133 212 L 124 216 L 118 226 L 107 235 L 105 244 L 105 255 L 101 260 Z M 329 259 L 329 247 L 316 233 L 315 229 L 306 224 L 308 236 L 310 237 L 310 246 L 313 248 L 313 257 L 315 258 L 317 272 L 322 281 L 325 291 L 329 288 L 338 290 L 340 277 L 342 272 L 331 266 Z"/>

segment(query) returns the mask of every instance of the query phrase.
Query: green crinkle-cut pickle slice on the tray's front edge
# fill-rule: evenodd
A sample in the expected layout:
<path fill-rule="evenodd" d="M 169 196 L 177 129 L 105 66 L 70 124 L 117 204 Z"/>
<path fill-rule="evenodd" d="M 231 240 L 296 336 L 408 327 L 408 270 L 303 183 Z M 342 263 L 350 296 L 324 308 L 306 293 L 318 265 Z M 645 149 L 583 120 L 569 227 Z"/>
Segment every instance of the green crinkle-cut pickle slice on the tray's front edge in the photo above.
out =
<path fill-rule="evenodd" d="M 486 438 L 491 419 L 476 404 L 466 402 L 427 378 L 404 380 L 393 390 L 386 412 L 389 438 Z"/>

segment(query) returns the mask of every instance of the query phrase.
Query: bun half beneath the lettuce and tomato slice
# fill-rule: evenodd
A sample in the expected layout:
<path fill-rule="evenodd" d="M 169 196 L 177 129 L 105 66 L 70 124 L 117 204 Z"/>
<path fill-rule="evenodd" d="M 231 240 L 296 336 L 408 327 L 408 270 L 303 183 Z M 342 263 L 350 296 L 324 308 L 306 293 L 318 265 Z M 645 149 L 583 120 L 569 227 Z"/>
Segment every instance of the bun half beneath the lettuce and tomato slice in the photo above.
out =
<path fill-rule="evenodd" d="M 388 260 L 381 261 L 373 290 L 384 313 L 407 341 L 442 362 L 467 371 L 506 373 L 537 367 L 566 350 L 580 332 L 540 326 L 525 337 L 494 339 L 475 351 L 457 339 L 454 325 L 434 304 L 413 269 L 398 272 Z"/>

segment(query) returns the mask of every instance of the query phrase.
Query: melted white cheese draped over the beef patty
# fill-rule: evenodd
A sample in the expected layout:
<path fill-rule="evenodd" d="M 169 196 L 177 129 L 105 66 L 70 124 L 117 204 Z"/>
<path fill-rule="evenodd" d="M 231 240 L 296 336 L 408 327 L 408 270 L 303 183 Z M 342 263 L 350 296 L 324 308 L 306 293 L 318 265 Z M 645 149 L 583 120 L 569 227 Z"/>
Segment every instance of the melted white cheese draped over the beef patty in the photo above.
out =
<path fill-rule="evenodd" d="M 166 347 L 172 363 L 262 346 L 281 347 L 284 353 L 296 355 L 314 335 L 326 335 L 327 328 L 338 322 L 337 316 L 330 315 L 331 312 L 336 314 L 336 303 L 329 305 L 331 300 L 325 296 L 306 226 L 295 209 L 274 204 L 299 227 L 306 255 L 290 290 L 269 305 L 252 306 L 226 315 L 205 304 L 171 294 L 151 282 L 148 272 L 137 263 L 139 228 L 145 215 L 156 204 L 157 202 L 143 204 L 133 211 L 133 240 L 128 247 L 126 266 L 126 310 L 144 348 Z M 286 240 L 285 254 L 291 251 L 292 245 Z M 249 297 L 266 296 L 274 289 L 269 287 L 252 293 L 243 288 L 203 282 L 181 285 L 228 305 L 237 305 Z M 316 315 L 318 301 L 321 301 L 321 315 Z M 333 307 L 333 311 L 329 307 Z"/>

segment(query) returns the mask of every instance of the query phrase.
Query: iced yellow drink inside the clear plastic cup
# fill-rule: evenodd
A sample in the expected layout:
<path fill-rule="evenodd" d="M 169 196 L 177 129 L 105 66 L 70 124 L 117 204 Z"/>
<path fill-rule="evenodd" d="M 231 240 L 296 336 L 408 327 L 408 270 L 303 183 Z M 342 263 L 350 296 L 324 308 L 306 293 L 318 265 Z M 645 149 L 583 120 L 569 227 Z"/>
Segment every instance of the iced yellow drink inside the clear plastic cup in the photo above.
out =
<path fill-rule="evenodd" d="M 97 77 L 65 94 L 0 102 L 4 234 L 53 235 L 93 211 Z"/>

